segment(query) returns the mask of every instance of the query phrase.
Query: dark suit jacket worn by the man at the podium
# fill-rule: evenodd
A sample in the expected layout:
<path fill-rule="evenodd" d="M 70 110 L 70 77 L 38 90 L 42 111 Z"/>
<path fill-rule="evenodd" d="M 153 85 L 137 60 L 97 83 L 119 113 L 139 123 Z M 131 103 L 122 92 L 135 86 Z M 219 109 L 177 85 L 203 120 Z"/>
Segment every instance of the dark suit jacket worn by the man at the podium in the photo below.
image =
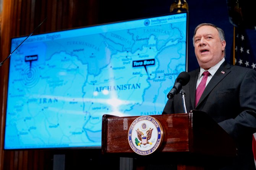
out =
<path fill-rule="evenodd" d="M 195 107 L 196 81 L 200 69 L 189 72 L 186 109 L 204 111 L 236 141 L 238 157 L 227 169 L 255 170 L 252 134 L 256 132 L 256 71 L 224 62 L 207 84 Z M 184 113 L 181 95 L 169 99 L 162 114 Z"/>

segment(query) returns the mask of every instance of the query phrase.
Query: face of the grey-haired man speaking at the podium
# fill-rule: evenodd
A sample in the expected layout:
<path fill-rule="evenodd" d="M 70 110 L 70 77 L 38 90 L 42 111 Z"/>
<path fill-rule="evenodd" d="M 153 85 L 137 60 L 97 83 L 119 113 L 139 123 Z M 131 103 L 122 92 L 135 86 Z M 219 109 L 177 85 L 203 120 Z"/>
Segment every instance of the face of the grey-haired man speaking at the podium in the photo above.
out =
<path fill-rule="evenodd" d="M 201 26 L 194 37 L 194 52 L 198 64 L 203 69 L 215 66 L 224 58 L 226 42 L 220 40 L 218 30 L 211 26 Z"/>

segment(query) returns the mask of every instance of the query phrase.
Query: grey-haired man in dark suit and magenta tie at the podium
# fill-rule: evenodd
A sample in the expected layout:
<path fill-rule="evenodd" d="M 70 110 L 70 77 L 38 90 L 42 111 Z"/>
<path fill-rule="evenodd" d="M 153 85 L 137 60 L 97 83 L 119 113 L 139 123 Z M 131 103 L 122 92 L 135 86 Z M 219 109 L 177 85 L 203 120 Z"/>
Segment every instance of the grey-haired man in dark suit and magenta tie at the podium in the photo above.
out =
<path fill-rule="evenodd" d="M 256 132 L 256 71 L 225 61 L 225 35 L 213 24 L 199 24 L 193 44 L 200 68 L 189 72 L 190 81 L 182 87 L 186 109 L 206 112 L 237 143 L 238 156 L 223 169 L 255 170 L 252 136 Z M 203 78 L 205 71 L 209 75 Z M 206 80 L 205 89 L 201 97 L 196 97 L 201 80 Z M 162 114 L 172 113 L 184 113 L 181 95 L 169 99 Z"/>

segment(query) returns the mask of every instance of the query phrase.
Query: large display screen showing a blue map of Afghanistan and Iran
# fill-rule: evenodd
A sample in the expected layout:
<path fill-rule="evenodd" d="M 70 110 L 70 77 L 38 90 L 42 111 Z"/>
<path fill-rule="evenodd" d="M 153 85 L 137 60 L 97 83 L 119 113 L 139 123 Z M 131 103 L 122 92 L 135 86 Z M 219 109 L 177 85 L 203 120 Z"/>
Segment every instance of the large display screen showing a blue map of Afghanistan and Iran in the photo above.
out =
<path fill-rule="evenodd" d="M 187 18 L 30 36 L 10 57 L 4 149 L 100 148 L 102 115 L 162 114 L 187 68 Z"/>

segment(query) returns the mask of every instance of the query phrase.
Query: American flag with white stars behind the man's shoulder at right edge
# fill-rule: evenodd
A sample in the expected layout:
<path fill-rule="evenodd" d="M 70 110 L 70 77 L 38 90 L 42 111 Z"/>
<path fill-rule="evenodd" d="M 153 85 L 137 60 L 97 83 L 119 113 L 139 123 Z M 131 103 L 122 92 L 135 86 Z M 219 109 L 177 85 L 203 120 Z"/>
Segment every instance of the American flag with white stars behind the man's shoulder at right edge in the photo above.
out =
<path fill-rule="evenodd" d="M 256 70 L 256 57 L 253 54 L 246 30 L 242 27 L 234 27 L 233 41 L 233 64 Z M 256 167 L 256 133 L 253 134 L 252 145 Z"/>

